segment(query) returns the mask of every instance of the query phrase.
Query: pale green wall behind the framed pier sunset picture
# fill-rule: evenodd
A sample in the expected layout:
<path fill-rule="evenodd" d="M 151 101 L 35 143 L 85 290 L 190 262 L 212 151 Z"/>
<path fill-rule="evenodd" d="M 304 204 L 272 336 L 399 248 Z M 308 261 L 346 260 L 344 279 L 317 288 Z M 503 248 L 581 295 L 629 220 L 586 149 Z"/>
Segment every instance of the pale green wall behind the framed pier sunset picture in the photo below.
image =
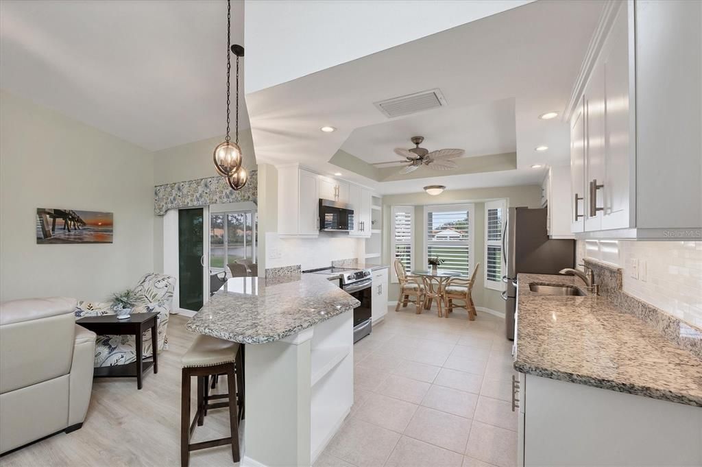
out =
<path fill-rule="evenodd" d="M 0 301 L 105 300 L 154 268 L 153 156 L 0 93 Z M 114 213 L 112 244 L 41 244 L 37 208 Z"/>

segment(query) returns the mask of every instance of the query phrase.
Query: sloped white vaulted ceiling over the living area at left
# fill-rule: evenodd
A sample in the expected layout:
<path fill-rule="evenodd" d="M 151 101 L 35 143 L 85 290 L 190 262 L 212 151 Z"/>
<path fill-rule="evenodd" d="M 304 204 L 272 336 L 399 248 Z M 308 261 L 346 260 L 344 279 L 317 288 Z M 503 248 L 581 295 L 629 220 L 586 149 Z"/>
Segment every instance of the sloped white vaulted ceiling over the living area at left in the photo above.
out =
<path fill-rule="evenodd" d="M 220 136 L 226 27 L 222 0 L 2 0 L 0 84 L 148 150 Z"/>

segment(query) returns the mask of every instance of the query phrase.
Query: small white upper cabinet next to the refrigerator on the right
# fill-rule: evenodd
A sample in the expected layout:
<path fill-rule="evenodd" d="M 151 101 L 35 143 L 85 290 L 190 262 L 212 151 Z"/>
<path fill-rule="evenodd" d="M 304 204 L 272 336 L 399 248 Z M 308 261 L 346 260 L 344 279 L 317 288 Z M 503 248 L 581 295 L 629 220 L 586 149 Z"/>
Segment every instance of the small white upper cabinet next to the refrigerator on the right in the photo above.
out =
<path fill-rule="evenodd" d="M 546 190 L 546 230 L 548 237 L 554 239 L 571 239 L 571 197 L 570 167 L 549 167 L 544 180 Z"/>

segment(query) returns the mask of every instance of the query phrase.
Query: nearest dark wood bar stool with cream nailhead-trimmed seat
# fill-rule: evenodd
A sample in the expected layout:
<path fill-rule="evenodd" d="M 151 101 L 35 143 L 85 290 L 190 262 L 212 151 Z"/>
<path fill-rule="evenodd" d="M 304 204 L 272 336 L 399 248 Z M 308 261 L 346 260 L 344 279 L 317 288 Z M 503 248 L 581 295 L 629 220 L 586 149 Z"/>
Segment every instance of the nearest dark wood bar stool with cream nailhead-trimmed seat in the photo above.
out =
<path fill-rule="evenodd" d="M 239 344 L 210 336 L 199 335 L 181 360 L 183 367 L 183 385 L 181 388 L 180 407 L 180 466 L 187 467 L 190 463 L 190 452 L 208 447 L 232 445 L 234 462 L 239 462 L 239 419 L 243 415 L 243 359 Z M 228 393 L 209 395 L 208 379 L 210 376 L 225 374 L 227 376 Z M 197 376 L 197 411 L 190 421 L 190 378 Z M 237 386 L 239 390 L 237 391 Z M 210 403 L 214 399 L 227 399 L 225 402 Z M 208 410 L 229 407 L 230 429 L 229 438 L 209 440 L 191 444 L 190 437 L 195 426 L 204 424 Z"/>

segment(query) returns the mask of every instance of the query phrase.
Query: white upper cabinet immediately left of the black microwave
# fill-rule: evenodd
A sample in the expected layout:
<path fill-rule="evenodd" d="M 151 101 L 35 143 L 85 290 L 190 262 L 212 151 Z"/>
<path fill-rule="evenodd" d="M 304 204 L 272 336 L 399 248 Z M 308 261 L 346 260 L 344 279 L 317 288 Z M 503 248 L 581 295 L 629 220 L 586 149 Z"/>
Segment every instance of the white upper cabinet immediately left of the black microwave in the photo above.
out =
<path fill-rule="evenodd" d="M 278 168 L 278 234 L 319 235 L 319 176 L 298 165 Z"/>

